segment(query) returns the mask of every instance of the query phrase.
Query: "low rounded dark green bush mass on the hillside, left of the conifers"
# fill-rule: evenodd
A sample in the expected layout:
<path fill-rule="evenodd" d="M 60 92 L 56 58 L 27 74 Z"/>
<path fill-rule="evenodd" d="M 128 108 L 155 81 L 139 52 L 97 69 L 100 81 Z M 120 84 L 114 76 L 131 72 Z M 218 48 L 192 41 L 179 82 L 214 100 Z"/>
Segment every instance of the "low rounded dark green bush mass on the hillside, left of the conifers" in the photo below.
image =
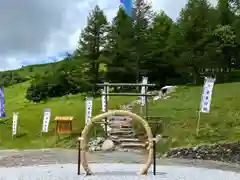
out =
<path fill-rule="evenodd" d="M 68 61 L 54 69 L 51 74 L 36 76 L 27 89 L 26 98 L 33 102 L 40 102 L 47 98 L 89 90 L 91 85 L 83 78 L 82 69 L 76 62 Z"/>

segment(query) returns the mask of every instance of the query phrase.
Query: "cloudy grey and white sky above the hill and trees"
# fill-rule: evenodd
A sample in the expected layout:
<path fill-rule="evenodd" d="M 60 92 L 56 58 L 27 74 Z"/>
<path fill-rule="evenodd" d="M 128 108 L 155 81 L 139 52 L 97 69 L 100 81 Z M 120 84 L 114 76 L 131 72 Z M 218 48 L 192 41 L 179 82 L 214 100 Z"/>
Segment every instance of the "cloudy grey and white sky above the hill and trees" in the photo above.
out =
<path fill-rule="evenodd" d="M 187 0 L 148 0 L 176 19 Z M 99 5 L 110 21 L 120 0 L 0 0 L 0 70 L 58 61 L 76 48 L 88 14 Z"/>

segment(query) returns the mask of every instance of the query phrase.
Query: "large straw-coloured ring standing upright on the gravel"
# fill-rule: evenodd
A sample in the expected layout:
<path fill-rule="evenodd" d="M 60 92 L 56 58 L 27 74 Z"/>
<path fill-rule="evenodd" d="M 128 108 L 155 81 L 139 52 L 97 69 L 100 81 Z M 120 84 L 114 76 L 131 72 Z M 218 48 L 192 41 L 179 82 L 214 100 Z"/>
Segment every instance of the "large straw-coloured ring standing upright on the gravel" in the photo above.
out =
<path fill-rule="evenodd" d="M 87 149 L 88 149 L 88 133 L 92 129 L 93 125 L 95 122 L 102 121 L 103 119 L 110 117 L 110 116 L 129 116 L 131 117 L 134 121 L 138 121 L 143 125 L 143 127 L 146 130 L 147 136 L 148 136 L 148 159 L 145 163 L 145 165 L 142 167 L 140 170 L 141 175 L 146 175 L 148 172 L 149 167 L 152 164 L 152 157 L 153 157 L 153 135 L 151 128 L 146 120 L 138 116 L 137 114 L 134 114 L 129 111 L 124 111 L 124 110 L 113 110 L 113 111 L 108 111 L 106 113 L 97 115 L 93 117 L 88 124 L 85 126 L 85 128 L 82 131 L 82 136 L 81 136 L 81 161 L 82 161 L 82 166 L 86 172 L 86 175 L 91 175 L 92 171 L 89 168 L 88 165 L 88 160 L 87 160 Z"/>

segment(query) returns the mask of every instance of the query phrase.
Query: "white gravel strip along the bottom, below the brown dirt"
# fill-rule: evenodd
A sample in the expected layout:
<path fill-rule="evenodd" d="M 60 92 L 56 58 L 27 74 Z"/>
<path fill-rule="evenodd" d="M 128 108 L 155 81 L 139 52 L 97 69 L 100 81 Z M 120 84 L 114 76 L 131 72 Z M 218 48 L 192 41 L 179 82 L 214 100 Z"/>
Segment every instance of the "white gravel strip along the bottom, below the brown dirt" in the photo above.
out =
<path fill-rule="evenodd" d="M 2 180 L 239 180 L 240 174 L 193 167 L 157 166 L 157 175 L 139 176 L 136 164 L 91 164 L 92 176 L 76 175 L 75 164 L 1 168 Z"/>

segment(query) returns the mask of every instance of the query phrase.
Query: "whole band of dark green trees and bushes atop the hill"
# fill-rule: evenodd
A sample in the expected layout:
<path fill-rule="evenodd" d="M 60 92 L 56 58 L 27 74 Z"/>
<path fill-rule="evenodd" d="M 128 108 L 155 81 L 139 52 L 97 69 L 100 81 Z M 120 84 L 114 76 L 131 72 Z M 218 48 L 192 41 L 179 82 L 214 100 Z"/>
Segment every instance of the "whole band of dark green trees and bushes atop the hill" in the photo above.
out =
<path fill-rule="evenodd" d="M 178 19 L 135 0 L 132 17 L 120 8 L 109 22 L 94 7 L 76 51 L 65 63 L 36 77 L 27 98 L 41 101 L 69 93 L 96 92 L 98 82 L 199 84 L 240 81 L 240 3 L 189 0 Z"/>

